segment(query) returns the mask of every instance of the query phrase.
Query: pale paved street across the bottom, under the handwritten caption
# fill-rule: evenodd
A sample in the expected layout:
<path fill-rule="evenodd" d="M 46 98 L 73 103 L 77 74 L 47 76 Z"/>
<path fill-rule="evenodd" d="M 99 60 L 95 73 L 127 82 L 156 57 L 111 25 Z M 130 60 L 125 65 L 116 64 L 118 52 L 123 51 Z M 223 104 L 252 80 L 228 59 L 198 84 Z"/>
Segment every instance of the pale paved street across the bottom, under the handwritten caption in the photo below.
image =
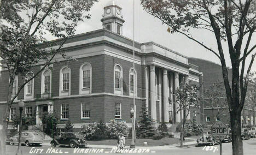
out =
<path fill-rule="evenodd" d="M 256 152 L 256 139 L 250 139 L 243 141 L 244 146 L 244 154 L 253 155 Z M 7 154 L 12 155 L 16 153 L 18 146 L 7 146 Z M 143 149 L 144 148 L 144 149 Z M 173 147 L 173 146 L 159 146 L 159 147 L 137 147 L 137 150 L 132 150 L 132 152 L 137 151 L 137 153 L 132 154 L 168 154 L 168 155 L 177 155 L 177 154 L 186 154 L 186 155 L 211 155 L 211 154 L 219 154 L 219 145 L 215 145 L 214 147 L 207 148 L 205 147 Z M 147 148 L 149 150 L 147 150 Z M 153 148 L 152 150 L 150 148 Z M 39 150 L 38 150 L 39 149 Z M 126 150 L 126 152 L 122 154 L 130 154 L 127 153 L 130 150 Z M 140 152 L 140 153 L 139 153 Z M 42 147 L 26 147 L 22 146 L 22 153 L 25 154 L 114 154 L 115 150 L 111 148 L 90 148 L 86 150 L 86 148 L 68 148 L 68 147 L 55 147 L 51 148 L 48 146 Z M 117 153 L 117 152 L 116 152 Z M 121 152 L 119 152 L 121 153 Z M 231 143 L 223 143 L 223 155 L 224 154 L 232 154 Z"/>

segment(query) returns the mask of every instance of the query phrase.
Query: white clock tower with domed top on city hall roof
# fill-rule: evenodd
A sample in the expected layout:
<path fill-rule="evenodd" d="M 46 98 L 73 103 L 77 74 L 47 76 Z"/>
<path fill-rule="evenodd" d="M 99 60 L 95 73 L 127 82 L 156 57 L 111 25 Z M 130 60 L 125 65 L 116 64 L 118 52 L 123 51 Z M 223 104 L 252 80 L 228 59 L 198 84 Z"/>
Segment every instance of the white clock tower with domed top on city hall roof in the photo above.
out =
<path fill-rule="evenodd" d="M 113 31 L 118 34 L 122 34 L 123 31 L 123 15 L 122 8 L 115 4 L 115 1 L 110 1 L 106 7 L 104 7 L 104 14 L 102 15 L 102 26 L 109 31 Z"/>

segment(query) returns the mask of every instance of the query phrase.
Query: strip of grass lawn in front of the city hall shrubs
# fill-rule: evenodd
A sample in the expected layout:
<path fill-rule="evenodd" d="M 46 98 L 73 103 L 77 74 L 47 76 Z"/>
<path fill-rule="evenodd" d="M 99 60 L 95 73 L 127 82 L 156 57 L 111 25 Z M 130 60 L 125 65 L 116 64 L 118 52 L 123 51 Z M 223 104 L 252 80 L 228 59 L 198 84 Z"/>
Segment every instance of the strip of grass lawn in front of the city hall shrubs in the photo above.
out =
<path fill-rule="evenodd" d="M 178 144 L 180 141 L 178 138 L 162 138 L 160 140 L 154 139 L 136 139 L 136 146 L 144 146 L 144 141 L 148 142 L 148 146 L 162 146 L 162 145 L 170 145 L 170 144 Z M 184 142 L 193 141 L 193 140 L 185 140 Z M 89 140 L 88 144 L 90 145 L 117 145 L 116 139 L 108 139 L 108 140 Z M 125 139 L 125 145 L 130 146 L 131 139 Z"/>

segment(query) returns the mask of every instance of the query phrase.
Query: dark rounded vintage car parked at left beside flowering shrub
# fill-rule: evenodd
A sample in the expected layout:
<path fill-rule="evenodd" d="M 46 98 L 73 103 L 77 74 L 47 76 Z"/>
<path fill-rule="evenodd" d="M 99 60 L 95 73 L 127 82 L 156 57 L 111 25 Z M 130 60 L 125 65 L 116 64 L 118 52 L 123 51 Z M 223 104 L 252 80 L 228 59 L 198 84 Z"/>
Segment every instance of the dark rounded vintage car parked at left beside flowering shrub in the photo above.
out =
<path fill-rule="evenodd" d="M 51 141 L 51 147 L 70 146 L 74 148 L 76 146 L 86 146 L 87 142 L 83 135 L 73 132 L 61 133 L 61 135 Z"/>

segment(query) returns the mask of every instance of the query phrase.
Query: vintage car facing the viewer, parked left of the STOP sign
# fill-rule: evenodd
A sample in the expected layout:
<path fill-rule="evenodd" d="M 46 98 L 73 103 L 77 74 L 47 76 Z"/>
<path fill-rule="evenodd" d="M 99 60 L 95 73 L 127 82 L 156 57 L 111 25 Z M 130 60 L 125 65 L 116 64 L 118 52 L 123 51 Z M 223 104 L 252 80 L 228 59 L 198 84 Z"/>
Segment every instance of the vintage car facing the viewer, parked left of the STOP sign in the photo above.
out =
<path fill-rule="evenodd" d="M 201 145 L 215 145 L 219 141 L 213 138 L 211 131 L 205 131 L 202 133 L 202 136 L 200 137 L 200 139 L 196 140 L 196 142 L 198 146 L 201 146 Z"/>

